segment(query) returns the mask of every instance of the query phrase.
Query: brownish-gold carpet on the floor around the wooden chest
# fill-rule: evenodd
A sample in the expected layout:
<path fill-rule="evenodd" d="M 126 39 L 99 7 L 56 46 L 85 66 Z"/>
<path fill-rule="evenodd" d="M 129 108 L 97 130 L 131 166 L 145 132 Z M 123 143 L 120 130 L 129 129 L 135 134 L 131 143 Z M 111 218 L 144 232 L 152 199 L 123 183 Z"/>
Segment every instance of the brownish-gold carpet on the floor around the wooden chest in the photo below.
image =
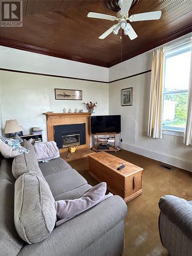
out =
<path fill-rule="evenodd" d="M 158 201 L 163 195 L 192 200 L 191 173 L 177 167 L 173 167 L 172 171 L 167 170 L 159 166 L 158 161 L 124 150 L 113 154 L 144 169 L 143 194 L 127 203 L 124 255 L 168 255 L 159 238 Z M 88 158 L 74 160 L 70 164 L 88 180 L 88 183 L 97 184 L 88 173 Z"/>

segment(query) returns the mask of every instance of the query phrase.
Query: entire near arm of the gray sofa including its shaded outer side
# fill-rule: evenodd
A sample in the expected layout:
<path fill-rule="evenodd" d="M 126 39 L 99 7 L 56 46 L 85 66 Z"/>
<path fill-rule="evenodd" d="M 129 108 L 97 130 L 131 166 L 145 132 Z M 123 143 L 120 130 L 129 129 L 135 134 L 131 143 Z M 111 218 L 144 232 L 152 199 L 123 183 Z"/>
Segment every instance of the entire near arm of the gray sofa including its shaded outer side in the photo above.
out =
<path fill-rule="evenodd" d="M 54 228 L 51 235 L 41 243 L 24 246 L 18 256 L 122 255 L 124 242 L 123 218 L 126 213 L 127 206 L 124 200 L 119 196 L 111 197 L 63 225 Z M 119 224 L 120 227 L 114 230 L 114 227 Z M 111 230 L 112 233 L 108 237 L 108 232 L 111 232 Z M 100 240 L 104 240 L 104 243 L 97 243 Z M 121 249 L 116 250 L 119 247 Z"/>

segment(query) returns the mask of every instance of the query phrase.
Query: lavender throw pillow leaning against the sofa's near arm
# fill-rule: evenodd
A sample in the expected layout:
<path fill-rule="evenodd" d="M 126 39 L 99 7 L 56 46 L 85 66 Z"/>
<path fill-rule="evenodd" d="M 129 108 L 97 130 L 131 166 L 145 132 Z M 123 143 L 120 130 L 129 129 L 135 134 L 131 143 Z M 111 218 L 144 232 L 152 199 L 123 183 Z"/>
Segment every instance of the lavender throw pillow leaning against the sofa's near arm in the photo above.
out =
<path fill-rule="evenodd" d="M 81 214 L 81 212 L 90 209 L 101 201 L 113 196 L 113 194 L 111 193 L 109 193 L 108 195 L 105 195 L 105 193 L 106 183 L 101 182 L 98 185 L 87 190 L 82 196 L 77 199 L 56 201 L 56 227 Z"/>

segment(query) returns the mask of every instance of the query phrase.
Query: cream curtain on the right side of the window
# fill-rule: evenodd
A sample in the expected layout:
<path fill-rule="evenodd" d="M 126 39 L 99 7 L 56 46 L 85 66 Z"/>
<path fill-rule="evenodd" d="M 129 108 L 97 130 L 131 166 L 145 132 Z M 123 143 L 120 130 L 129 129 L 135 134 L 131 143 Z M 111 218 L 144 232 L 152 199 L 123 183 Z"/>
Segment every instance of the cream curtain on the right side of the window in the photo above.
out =
<path fill-rule="evenodd" d="M 191 59 L 190 59 L 187 120 L 186 120 L 186 129 L 184 133 L 184 144 L 192 145 L 192 53 L 191 53 Z"/>

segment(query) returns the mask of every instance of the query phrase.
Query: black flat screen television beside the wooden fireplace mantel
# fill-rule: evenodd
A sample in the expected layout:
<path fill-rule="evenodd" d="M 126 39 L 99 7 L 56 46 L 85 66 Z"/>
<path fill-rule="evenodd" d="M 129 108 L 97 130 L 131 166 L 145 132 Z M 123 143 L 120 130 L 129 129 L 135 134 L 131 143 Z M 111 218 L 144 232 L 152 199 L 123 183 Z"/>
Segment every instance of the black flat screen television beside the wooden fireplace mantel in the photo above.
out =
<path fill-rule="evenodd" d="M 91 116 L 91 133 L 120 133 L 121 116 Z"/>

